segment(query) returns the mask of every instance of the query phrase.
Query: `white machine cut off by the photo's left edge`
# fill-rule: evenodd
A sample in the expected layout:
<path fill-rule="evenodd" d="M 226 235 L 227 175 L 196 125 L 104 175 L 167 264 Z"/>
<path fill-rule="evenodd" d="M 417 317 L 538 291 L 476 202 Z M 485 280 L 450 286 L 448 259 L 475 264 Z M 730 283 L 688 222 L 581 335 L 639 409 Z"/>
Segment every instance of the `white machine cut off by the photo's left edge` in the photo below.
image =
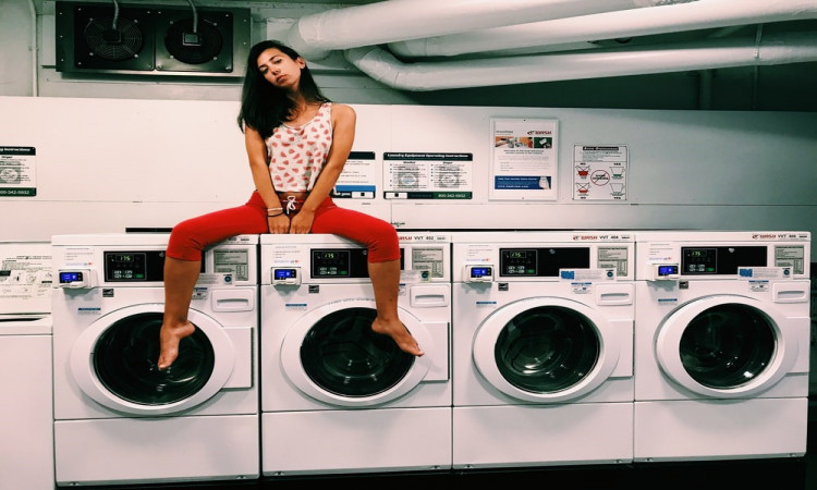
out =
<path fill-rule="evenodd" d="M 0 243 L 0 489 L 53 488 L 51 244 Z"/>

